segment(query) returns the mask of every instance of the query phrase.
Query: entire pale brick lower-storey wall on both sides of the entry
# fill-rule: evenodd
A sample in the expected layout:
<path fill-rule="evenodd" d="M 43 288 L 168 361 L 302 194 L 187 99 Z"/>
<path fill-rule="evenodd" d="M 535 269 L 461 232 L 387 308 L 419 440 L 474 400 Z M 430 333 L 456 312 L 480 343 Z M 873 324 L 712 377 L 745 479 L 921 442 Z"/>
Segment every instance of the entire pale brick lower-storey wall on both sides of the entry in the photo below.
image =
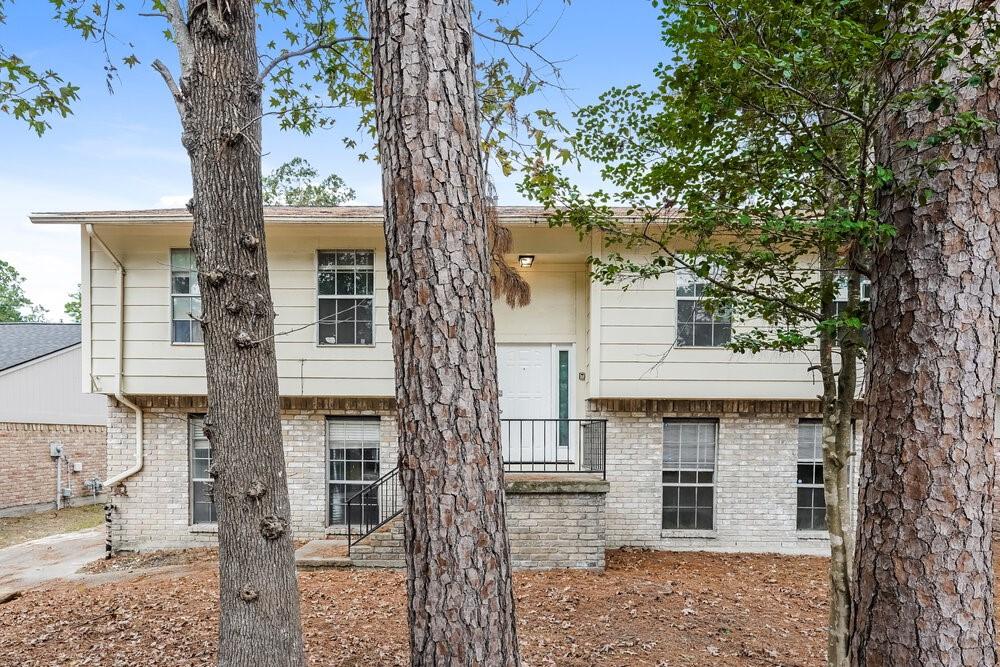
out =
<path fill-rule="evenodd" d="M 114 496 L 117 549 L 214 544 L 215 534 L 189 524 L 188 412 L 148 408 L 146 459 Z M 286 410 L 282 413 L 292 528 L 297 538 L 318 538 L 326 526 L 325 419 L 328 415 L 381 416 L 381 465 L 397 465 L 397 429 L 391 411 Z M 607 412 L 606 533 L 609 547 L 720 551 L 828 553 L 825 535 L 795 529 L 798 417 L 793 414 Z M 811 416 L 811 415 L 804 415 Z M 661 461 L 664 417 L 709 417 L 719 422 L 712 531 L 661 529 Z M 112 405 L 108 415 L 108 472 L 128 467 L 134 456 L 134 419 Z M 861 424 L 857 433 L 860 438 Z M 857 457 L 852 465 L 856 505 Z M 513 508 L 512 508 L 513 509 Z M 513 525 L 513 522 L 512 522 Z"/>

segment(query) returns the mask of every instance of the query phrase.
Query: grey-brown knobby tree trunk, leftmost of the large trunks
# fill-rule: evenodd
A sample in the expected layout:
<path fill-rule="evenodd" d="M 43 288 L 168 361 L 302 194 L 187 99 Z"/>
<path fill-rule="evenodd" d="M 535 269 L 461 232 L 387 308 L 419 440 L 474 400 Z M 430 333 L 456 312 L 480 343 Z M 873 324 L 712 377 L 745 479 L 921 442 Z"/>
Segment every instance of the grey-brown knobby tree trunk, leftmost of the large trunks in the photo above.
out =
<path fill-rule="evenodd" d="M 304 664 L 261 203 L 254 4 L 196 4 L 183 69 L 219 524 L 219 664 Z M 184 55 L 182 54 L 182 62 Z"/>

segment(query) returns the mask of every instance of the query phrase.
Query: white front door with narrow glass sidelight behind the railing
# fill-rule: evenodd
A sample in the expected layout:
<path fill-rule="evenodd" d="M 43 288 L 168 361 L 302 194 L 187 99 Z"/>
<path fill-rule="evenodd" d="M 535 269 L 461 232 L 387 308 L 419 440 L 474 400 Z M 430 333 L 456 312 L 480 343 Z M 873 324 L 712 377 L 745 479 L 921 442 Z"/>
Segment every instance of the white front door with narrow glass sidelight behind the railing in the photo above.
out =
<path fill-rule="evenodd" d="M 523 470 L 568 465 L 575 433 L 570 391 L 571 347 L 498 345 L 504 459 Z"/>

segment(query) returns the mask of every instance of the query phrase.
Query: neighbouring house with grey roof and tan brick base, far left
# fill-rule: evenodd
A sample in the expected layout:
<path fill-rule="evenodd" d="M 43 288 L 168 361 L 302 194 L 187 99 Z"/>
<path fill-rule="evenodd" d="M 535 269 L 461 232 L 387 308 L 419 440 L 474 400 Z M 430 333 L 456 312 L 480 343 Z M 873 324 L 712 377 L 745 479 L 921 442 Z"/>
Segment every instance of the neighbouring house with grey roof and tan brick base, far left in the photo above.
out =
<path fill-rule="evenodd" d="M 0 516 L 95 502 L 107 400 L 81 391 L 79 324 L 0 323 Z"/>

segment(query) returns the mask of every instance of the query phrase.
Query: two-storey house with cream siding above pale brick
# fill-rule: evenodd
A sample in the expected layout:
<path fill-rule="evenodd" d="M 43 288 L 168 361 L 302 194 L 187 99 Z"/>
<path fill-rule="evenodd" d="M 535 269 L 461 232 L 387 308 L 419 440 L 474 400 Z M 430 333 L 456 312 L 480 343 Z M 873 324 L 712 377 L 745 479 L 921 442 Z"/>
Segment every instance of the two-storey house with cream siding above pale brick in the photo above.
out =
<path fill-rule="evenodd" d="M 606 458 L 609 546 L 824 552 L 814 362 L 723 349 L 731 325 L 704 312 L 690 276 L 603 286 L 587 264 L 605 252 L 600 238 L 550 228 L 534 208 L 500 217 L 514 237 L 508 260 L 532 288 L 525 308 L 494 306 L 508 470 L 602 472 Z M 265 218 L 296 535 L 342 532 L 370 513 L 377 523 L 377 494 L 351 517 L 344 499 L 396 465 L 382 209 L 276 207 Z M 128 474 L 115 545 L 214 540 L 189 214 L 32 220 L 81 225 L 83 389 L 110 397 L 110 481 Z"/>

